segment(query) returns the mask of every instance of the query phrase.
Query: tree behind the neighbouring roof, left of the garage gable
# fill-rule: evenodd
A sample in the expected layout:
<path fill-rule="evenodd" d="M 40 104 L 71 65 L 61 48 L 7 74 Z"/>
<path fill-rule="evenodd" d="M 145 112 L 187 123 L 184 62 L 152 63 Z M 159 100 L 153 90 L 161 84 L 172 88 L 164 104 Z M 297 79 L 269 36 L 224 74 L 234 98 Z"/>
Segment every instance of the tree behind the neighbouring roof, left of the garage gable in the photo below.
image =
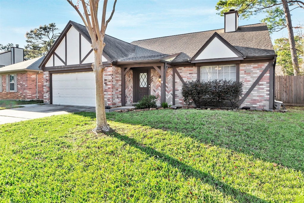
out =
<path fill-rule="evenodd" d="M 28 44 L 24 47 L 25 60 L 45 56 L 60 33 L 61 31 L 55 23 L 40 25 L 39 28 L 26 32 L 25 37 Z"/>

